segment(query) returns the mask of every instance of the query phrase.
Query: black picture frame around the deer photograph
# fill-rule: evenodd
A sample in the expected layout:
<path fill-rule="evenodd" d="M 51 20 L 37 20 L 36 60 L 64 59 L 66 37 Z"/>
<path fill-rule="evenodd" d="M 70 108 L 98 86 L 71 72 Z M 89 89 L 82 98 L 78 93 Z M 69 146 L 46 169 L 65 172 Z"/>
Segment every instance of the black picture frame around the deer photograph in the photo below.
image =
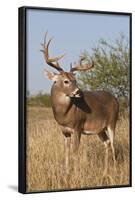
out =
<path fill-rule="evenodd" d="M 120 16 L 129 16 L 130 18 L 130 172 L 129 172 L 129 184 L 128 185 L 112 185 L 106 187 L 90 187 L 81 189 L 65 189 L 65 190 L 48 190 L 48 191 L 34 191 L 28 192 L 26 185 L 26 126 L 27 126 L 27 112 L 26 112 L 26 90 L 27 90 L 27 73 L 26 73 L 26 60 L 27 60 L 27 10 L 45 10 L 54 12 L 72 12 L 72 13 L 97 13 L 97 14 L 112 14 Z M 76 10 L 65 8 L 49 8 L 49 7 L 20 7 L 18 9 L 18 27 L 19 27 L 19 81 L 18 81 L 18 93 L 19 93 L 19 135 L 18 135 L 18 191 L 23 194 L 28 193 L 41 193 L 41 192 L 58 192 L 58 191 L 71 191 L 71 190 L 90 190 L 90 189 L 104 189 L 104 188 L 120 188 L 132 186 L 132 13 L 126 12 L 112 12 L 112 11 L 96 11 L 96 10 Z"/>

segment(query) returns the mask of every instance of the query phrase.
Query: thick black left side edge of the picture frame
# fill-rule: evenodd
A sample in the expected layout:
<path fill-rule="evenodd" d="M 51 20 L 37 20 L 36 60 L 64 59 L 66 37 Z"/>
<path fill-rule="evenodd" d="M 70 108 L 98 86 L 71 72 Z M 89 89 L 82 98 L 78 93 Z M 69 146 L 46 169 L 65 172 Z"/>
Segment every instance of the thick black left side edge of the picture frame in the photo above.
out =
<path fill-rule="evenodd" d="M 26 193 L 26 9 L 18 9 L 18 192 Z"/>

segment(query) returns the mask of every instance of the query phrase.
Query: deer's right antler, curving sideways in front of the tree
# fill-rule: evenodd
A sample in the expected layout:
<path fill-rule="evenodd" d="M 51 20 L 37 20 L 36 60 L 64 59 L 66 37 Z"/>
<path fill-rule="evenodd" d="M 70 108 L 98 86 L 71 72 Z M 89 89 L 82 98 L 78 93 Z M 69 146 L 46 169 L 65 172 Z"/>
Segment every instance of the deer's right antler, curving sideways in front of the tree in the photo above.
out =
<path fill-rule="evenodd" d="M 75 67 L 70 68 L 70 72 L 74 72 L 74 71 L 87 71 L 90 70 L 91 68 L 94 67 L 94 61 L 92 60 L 91 63 L 85 63 L 82 64 L 82 61 L 85 60 L 85 58 L 81 58 L 78 64 L 75 64 Z"/>

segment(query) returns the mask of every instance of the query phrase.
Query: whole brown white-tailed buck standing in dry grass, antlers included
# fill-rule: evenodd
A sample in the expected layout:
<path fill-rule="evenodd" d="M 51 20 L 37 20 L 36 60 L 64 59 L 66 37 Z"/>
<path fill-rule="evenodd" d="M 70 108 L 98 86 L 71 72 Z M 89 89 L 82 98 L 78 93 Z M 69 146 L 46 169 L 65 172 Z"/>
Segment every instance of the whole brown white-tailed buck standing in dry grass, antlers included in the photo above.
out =
<path fill-rule="evenodd" d="M 119 106 L 116 98 L 105 91 L 81 91 L 76 85 L 74 71 L 86 71 L 93 68 L 94 63 L 82 64 L 80 61 L 70 72 L 65 72 L 58 61 L 63 58 L 50 58 L 49 44 L 45 34 L 43 49 L 45 62 L 59 73 L 45 70 L 48 78 L 54 81 L 51 89 L 51 102 L 55 120 L 62 128 L 65 136 L 65 163 L 69 172 L 70 150 L 77 152 L 81 134 L 98 135 L 105 145 L 104 172 L 108 169 L 108 150 L 111 147 L 115 164 L 114 135 L 118 118 Z"/>

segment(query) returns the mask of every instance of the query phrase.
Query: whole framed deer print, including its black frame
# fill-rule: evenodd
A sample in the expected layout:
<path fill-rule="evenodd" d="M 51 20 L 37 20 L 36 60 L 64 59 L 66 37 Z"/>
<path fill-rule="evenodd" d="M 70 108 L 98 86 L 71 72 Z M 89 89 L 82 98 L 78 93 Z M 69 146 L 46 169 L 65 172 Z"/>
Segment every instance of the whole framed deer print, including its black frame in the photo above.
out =
<path fill-rule="evenodd" d="M 131 186 L 131 17 L 19 8 L 19 192 Z"/>

